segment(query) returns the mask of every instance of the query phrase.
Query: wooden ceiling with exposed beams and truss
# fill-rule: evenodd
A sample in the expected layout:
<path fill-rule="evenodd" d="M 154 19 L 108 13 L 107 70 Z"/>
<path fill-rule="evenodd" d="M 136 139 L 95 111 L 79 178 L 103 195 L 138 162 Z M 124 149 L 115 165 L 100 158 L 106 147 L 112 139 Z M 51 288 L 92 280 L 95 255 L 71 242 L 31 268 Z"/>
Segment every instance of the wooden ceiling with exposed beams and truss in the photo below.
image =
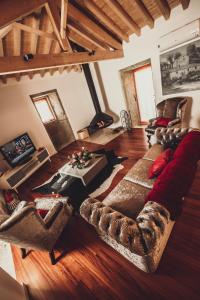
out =
<path fill-rule="evenodd" d="M 190 0 L 1 0 L 0 80 L 30 79 L 123 57 L 123 42 Z M 77 46 L 78 45 L 78 46 Z M 24 61 L 24 54 L 33 59 Z"/>

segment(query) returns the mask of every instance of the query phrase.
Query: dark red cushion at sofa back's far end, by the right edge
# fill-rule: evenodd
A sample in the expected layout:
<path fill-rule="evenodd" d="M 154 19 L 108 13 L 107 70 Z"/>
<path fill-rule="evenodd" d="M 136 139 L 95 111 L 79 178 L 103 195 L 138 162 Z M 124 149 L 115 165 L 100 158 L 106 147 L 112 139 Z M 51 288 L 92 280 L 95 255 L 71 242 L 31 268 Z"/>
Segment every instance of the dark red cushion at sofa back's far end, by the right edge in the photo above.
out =
<path fill-rule="evenodd" d="M 200 132 L 189 132 L 180 142 L 174 158 L 184 160 L 184 163 L 196 163 L 200 159 Z"/>

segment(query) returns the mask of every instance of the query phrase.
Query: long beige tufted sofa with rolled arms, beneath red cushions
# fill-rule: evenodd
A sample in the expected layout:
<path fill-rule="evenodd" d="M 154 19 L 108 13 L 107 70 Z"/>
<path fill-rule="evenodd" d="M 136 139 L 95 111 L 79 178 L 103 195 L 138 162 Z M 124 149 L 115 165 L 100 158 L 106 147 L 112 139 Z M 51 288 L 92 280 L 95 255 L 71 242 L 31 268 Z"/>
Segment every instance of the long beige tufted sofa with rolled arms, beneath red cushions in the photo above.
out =
<path fill-rule="evenodd" d="M 148 178 L 153 161 L 163 151 L 164 140 L 183 137 L 189 129 L 156 130 L 157 142 L 104 199 L 87 199 L 81 216 L 95 227 L 100 238 L 145 272 L 154 272 L 174 221 L 162 205 L 144 200 L 155 179 Z"/>

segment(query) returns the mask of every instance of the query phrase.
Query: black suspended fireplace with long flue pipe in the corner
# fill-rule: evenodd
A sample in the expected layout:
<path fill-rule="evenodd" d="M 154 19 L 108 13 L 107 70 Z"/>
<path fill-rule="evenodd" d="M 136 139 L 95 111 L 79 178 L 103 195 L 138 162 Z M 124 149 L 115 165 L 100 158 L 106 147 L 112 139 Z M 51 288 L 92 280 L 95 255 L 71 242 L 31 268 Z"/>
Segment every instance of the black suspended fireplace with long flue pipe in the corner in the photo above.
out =
<path fill-rule="evenodd" d="M 88 126 L 88 132 L 89 132 L 89 134 L 92 134 L 99 129 L 102 129 L 102 128 L 105 128 L 105 127 L 108 127 L 109 125 L 111 125 L 113 123 L 113 117 L 102 112 L 102 110 L 101 110 L 101 106 L 100 106 L 99 99 L 98 99 L 98 96 L 96 93 L 96 89 L 95 89 L 95 85 L 94 85 L 94 82 L 92 79 L 92 74 L 91 74 L 89 65 L 84 64 L 84 65 L 82 65 L 82 67 L 83 67 L 87 85 L 90 90 L 92 102 L 93 102 L 95 112 L 96 112 L 94 118 L 92 119 L 92 121 L 90 122 L 90 125 Z"/>

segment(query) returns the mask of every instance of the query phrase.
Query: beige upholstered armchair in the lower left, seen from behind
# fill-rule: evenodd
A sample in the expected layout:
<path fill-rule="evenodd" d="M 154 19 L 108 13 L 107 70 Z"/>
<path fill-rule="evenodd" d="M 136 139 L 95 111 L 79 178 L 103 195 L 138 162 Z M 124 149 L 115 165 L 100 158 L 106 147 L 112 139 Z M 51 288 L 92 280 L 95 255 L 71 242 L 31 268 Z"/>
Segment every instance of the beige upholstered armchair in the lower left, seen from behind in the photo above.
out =
<path fill-rule="evenodd" d="M 0 239 L 19 246 L 22 258 L 28 249 L 48 251 L 51 263 L 55 264 L 54 246 L 73 210 L 67 198 L 38 199 L 35 204 L 21 201 L 8 215 L 1 193 L 0 196 Z M 45 218 L 40 217 L 38 209 L 48 210 Z"/>

